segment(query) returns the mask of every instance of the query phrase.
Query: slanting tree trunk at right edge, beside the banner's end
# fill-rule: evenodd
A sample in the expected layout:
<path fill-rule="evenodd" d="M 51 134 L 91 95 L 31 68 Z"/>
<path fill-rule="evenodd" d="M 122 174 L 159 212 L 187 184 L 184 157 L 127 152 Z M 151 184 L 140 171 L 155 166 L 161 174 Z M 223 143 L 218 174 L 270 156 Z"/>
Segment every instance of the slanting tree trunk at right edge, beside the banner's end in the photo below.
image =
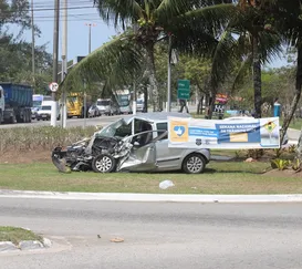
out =
<path fill-rule="evenodd" d="M 296 63 L 296 74 L 295 74 L 295 91 L 294 91 L 294 97 L 291 103 L 290 113 L 287 113 L 284 116 L 284 122 L 282 125 L 282 132 L 281 132 L 281 141 L 283 141 L 283 137 L 290 126 L 291 120 L 296 111 L 298 103 L 301 97 L 301 87 L 302 87 L 302 44 L 298 46 L 298 63 Z M 298 144 L 298 155 L 300 155 L 301 159 L 301 152 L 302 152 L 302 132 L 300 134 L 299 144 Z M 299 154 L 300 152 L 300 154 Z"/>

